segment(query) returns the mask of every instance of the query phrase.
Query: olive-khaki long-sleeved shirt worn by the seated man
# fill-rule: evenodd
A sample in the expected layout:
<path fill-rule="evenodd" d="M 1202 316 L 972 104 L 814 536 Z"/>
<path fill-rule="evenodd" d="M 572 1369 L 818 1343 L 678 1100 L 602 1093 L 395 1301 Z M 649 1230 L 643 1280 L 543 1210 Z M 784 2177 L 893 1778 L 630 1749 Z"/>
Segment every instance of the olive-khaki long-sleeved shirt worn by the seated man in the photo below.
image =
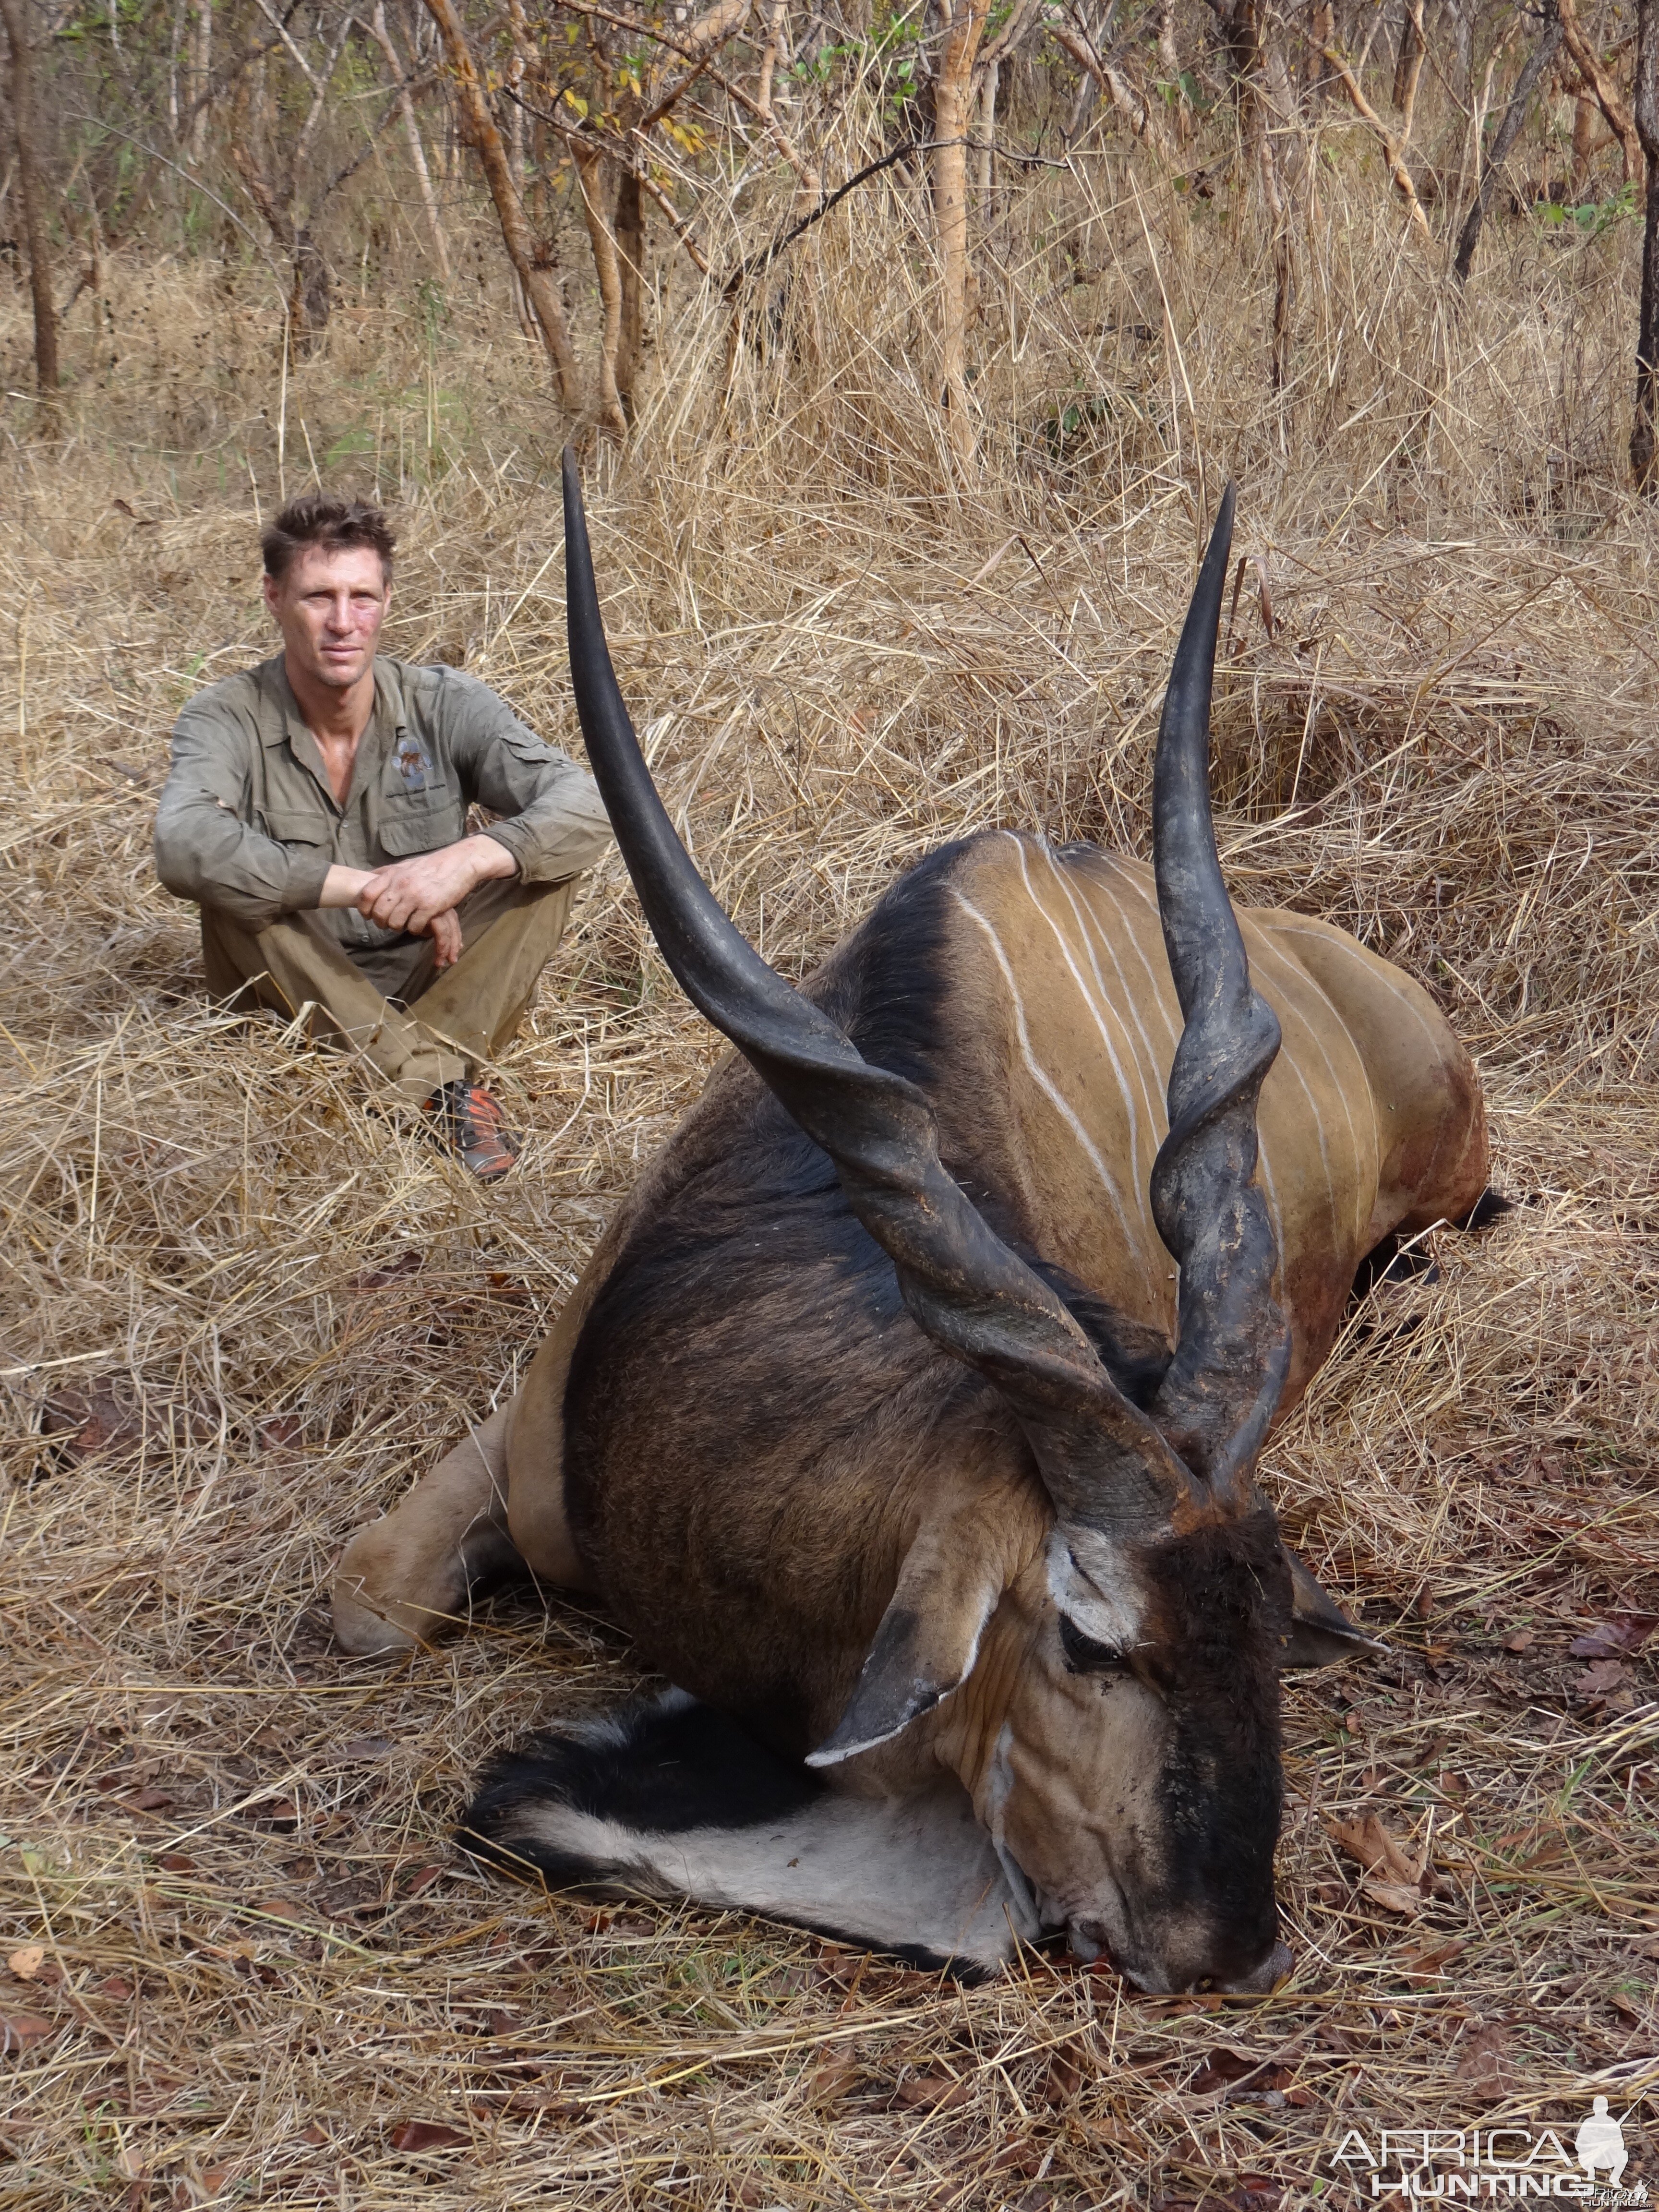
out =
<path fill-rule="evenodd" d="M 385 867 L 467 834 L 467 807 L 518 860 L 524 883 L 593 867 L 611 838 L 599 790 L 544 745 L 504 699 L 458 668 L 378 655 L 374 712 L 338 803 L 281 653 L 199 692 L 173 730 L 155 816 L 155 867 L 168 891 L 221 907 L 252 929 L 314 909 L 332 865 Z M 319 922 L 347 953 L 400 940 L 354 907 Z"/>

